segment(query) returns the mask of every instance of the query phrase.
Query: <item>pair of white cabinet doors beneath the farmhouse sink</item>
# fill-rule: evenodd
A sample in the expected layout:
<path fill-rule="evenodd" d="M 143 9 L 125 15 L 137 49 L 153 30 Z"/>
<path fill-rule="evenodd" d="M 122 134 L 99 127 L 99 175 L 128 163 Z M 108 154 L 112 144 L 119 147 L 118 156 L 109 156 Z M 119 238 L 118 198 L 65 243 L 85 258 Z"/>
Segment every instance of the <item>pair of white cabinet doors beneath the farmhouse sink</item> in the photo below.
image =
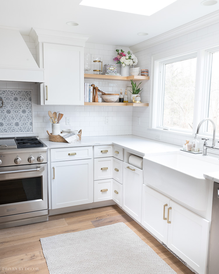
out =
<path fill-rule="evenodd" d="M 142 189 L 141 224 L 197 273 L 206 274 L 210 222 L 146 185 Z"/>

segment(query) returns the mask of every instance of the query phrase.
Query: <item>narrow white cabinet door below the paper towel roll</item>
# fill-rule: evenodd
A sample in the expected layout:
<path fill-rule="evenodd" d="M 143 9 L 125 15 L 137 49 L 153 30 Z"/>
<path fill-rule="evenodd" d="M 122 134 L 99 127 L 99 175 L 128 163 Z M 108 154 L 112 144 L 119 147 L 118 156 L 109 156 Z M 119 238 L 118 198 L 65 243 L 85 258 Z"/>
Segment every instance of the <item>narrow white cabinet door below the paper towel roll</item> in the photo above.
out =
<path fill-rule="evenodd" d="M 141 221 L 143 170 L 123 163 L 122 208 Z"/>

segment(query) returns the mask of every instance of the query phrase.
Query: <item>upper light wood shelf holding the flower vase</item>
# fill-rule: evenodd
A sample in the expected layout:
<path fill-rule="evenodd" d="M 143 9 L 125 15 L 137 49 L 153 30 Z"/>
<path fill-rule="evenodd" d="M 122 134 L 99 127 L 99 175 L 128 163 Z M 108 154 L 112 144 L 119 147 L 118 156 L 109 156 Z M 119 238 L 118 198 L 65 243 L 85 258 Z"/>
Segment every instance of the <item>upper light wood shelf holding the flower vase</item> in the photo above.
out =
<path fill-rule="evenodd" d="M 149 76 L 131 75 L 131 76 L 113 76 L 101 74 L 84 74 L 84 79 L 102 79 L 102 80 L 117 80 L 117 81 L 145 81 L 149 80 Z"/>

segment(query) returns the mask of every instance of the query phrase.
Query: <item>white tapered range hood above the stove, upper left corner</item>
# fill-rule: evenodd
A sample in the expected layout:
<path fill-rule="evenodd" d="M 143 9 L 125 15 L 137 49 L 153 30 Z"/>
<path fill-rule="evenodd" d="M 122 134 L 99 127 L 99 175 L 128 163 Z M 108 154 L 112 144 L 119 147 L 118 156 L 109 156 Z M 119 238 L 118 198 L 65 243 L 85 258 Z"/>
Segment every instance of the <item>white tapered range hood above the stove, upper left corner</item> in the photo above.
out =
<path fill-rule="evenodd" d="M 0 81 L 44 82 L 19 29 L 0 26 Z"/>

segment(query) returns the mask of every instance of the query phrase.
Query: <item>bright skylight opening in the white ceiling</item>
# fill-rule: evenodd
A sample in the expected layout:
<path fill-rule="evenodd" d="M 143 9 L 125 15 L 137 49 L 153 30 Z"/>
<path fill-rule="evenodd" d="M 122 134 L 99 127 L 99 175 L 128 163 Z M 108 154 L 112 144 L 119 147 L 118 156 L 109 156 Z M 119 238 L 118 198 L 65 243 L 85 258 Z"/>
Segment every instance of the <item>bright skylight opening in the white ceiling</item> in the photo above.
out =
<path fill-rule="evenodd" d="M 150 16 L 175 1 L 176 0 L 135 0 L 133 2 L 133 0 L 82 0 L 80 5 Z"/>

